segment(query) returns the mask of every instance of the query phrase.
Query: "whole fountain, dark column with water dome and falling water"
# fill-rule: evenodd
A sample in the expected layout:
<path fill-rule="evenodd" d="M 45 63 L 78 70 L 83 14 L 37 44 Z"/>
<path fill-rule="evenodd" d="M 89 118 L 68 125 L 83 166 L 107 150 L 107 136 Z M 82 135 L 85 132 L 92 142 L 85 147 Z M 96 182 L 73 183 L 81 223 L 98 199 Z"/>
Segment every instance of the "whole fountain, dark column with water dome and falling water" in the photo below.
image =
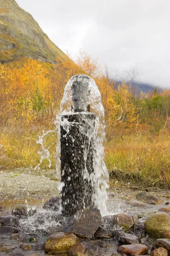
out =
<path fill-rule="evenodd" d="M 103 161 L 104 109 L 90 76 L 68 81 L 60 112 L 62 214 L 71 216 L 85 207 L 104 211 L 108 181 Z"/>

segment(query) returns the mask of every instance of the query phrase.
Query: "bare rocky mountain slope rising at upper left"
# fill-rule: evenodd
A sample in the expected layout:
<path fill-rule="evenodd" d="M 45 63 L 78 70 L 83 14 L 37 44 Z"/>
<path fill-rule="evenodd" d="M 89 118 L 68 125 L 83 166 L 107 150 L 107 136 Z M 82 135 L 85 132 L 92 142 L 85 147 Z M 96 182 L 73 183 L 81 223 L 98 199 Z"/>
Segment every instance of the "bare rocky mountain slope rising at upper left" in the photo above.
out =
<path fill-rule="evenodd" d="M 55 63 L 57 56 L 68 59 L 28 12 L 14 0 L 0 0 L 0 62 L 21 56 L 49 63 Z"/>

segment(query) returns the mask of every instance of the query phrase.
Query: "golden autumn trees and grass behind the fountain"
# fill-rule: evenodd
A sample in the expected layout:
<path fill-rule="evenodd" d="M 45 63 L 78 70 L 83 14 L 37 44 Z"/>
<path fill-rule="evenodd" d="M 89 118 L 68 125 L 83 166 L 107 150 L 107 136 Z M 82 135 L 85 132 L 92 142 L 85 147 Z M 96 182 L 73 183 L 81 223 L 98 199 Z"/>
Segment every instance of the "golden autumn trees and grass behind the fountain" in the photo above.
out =
<path fill-rule="evenodd" d="M 102 74 L 85 52 L 79 54 L 79 66 L 62 58 L 57 63 L 21 58 L 0 65 L 0 166 L 37 165 L 36 140 L 43 130 L 54 128 L 65 84 L 71 76 L 86 73 L 102 94 L 108 169 L 128 174 L 131 181 L 170 185 L 170 90 L 134 96 L 130 82 L 122 80 L 115 87 L 107 66 Z M 51 132 L 45 145 L 52 168 L 56 142 L 57 135 Z M 43 160 L 41 167 L 48 169 L 48 161 Z M 112 184 L 118 180 L 114 176 Z"/>

